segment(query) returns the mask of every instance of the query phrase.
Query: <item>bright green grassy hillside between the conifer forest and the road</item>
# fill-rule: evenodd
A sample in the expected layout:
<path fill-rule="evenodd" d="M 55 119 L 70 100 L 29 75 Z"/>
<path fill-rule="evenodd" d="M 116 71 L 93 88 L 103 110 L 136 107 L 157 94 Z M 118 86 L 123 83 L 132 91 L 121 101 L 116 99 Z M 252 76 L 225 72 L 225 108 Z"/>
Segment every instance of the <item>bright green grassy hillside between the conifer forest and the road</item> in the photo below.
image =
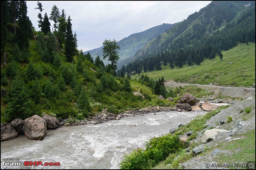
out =
<path fill-rule="evenodd" d="M 183 67 L 174 67 L 171 69 L 162 66 L 162 70 L 140 73 L 131 76 L 132 79 L 139 78 L 141 75 L 148 75 L 154 80 L 164 77 L 165 80 L 174 80 L 181 83 L 189 84 L 209 84 L 234 86 L 234 87 L 251 87 L 255 83 L 255 43 L 240 43 L 228 50 L 221 51 L 223 59 L 218 56 L 214 60 L 205 59 L 200 66 L 194 67 L 183 65 Z M 231 62 L 231 63 L 229 63 Z M 190 79 L 195 75 L 197 78 Z M 245 76 L 243 76 L 245 75 Z"/>

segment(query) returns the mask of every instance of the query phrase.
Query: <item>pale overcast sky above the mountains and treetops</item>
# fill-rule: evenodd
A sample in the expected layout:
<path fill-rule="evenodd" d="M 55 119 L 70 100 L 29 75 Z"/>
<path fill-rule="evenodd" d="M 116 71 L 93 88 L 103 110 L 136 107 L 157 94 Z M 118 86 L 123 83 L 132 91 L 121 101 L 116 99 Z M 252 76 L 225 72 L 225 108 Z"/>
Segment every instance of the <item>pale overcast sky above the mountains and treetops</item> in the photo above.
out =
<path fill-rule="evenodd" d="M 92 50 L 102 46 L 105 39 L 117 42 L 131 34 L 163 23 L 173 24 L 187 19 L 211 1 L 39 1 L 48 18 L 53 5 L 72 19 L 78 50 Z M 27 1 L 28 16 L 39 31 L 37 1 Z M 52 20 L 51 30 L 53 26 Z"/>

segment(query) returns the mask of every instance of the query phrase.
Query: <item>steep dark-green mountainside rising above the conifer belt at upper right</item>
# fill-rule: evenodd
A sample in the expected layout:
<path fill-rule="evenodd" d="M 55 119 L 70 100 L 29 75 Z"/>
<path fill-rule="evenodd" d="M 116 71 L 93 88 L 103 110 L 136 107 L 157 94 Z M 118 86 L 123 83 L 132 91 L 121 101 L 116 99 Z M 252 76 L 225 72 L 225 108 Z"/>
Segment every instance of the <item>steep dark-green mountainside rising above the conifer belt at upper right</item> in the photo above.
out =
<path fill-rule="evenodd" d="M 137 51 L 137 55 L 132 60 L 147 58 L 159 52 L 161 53 L 164 50 L 174 51 L 191 46 L 196 48 L 202 44 L 211 45 L 211 43 L 216 46 L 220 41 L 222 46 L 219 48 L 228 50 L 231 48 L 225 47 L 228 46 L 228 41 L 222 39 L 218 39 L 217 42 L 205 41 L 211 40 L 213 33 L 217 30 L 221 30 L 227 25 L 232 28 L 231 26 L 240 24 L 241 21 L 248 18 L 248 16 L 244 15 L 246 15 L 246 12 L 248 12 L 252 7 L 254 7 L 255 17 L 255 1 L 212 1 L 199 12 L 189 15 L 186 20 L 171 27 L 162 35 L 159 35 L 154 40 L 148 42 L 139 51 Z M 255 20 L 250 23 L 250 27 L 253 24 L 255 25 Z M 239 31 L 243 32 L 244 30 Z M 253 31 L 253 28 L 250 31 Z M 242 35 L 242 42 L 244 42 L 246 35 L 243 33 L 240 33 L 239 35 Z M 228 37 L 226 39 L 229 40 L 231 38 Z M 236 37 L 236 40 L 237 39 L 238 37 Z M 236 45 L 236 42 L 231 43 L 231 46 L 233 47 Z"/>

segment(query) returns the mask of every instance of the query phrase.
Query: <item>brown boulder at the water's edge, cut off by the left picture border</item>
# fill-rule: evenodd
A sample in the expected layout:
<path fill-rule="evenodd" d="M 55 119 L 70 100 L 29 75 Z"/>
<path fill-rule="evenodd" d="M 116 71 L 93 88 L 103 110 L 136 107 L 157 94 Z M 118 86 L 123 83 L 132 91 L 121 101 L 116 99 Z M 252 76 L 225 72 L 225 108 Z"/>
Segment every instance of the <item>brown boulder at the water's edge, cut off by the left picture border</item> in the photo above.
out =
<path fill-rule="evenodd" d="M 10 125 L 3 125 L 1 123 L 1 142 L 9 141 L 18 136 L 16 130 Z"/>

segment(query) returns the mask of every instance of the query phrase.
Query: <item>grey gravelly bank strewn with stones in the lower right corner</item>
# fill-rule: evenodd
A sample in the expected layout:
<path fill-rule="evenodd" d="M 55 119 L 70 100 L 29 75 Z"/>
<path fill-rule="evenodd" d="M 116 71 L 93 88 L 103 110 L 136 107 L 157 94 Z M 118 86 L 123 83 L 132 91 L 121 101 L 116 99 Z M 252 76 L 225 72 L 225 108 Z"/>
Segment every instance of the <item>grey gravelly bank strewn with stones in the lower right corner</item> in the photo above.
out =
<path fill-rule="evenodd" d="M 246 113 L 245 108 L 251 108 L 251 112 Z M 228 123 L 228 117 L 232 117 L 232 121 Z M 220 121 L 224 120 L 224 124 L 220 124 Z M 239 139 L 245 139 L 244 134 L 246 132 L 254 130 L 255 133 L 255 96 L 247 97 L 243 101 L 237 101 L 235 104 L 229 106 L 226 109 L 221 110 L 218 114 L 211 117 L 207 121 L 207 128 L 197 132 L 197 137 L 192 143 L 200 143 L 197 153 L 195 156 L 189 159 L 186 162 L 180 163 L 180 167 L 183 169 L 207 169 L 206 165 L 218 165 L 221 164 L 221 156 L 233 157 L 238 152 L 243 153 L 245 150 L 253 148 L 241 148 L 238 149 L 221 149 L 218 147 L 220 145 L 228 145 L 229 142 Z M 206 130 L 214 129 L 223 129 L 226 130 L 223 133 L 218 133 L 215 135 L 213 140 L 210 140 L 207 143 L 202 143 L 203 136 L 206 133 Z M 245 139 L 248 140 L 248 139 Z M 202 143 L 202 144 L 201 144 Z M 255 140 L 254 140 L 255 144 Z M 253 146 L 252 146 L 253 147 Z M 194 151 L 195 149 L 193 149 Z M 205 150 L 205 151 L 204 151 Z M 193 152 L 191 151 L 191 152 Z M 255 145 L 254 145 L 255 151 Z M 254 158 L 255 163 L 255 156 Z M 239 164 L 246 164 L 248 160 L 239 160 Z M 226 165 L 236 163 L 236 162 L 226 162 Z M 221 164 L 222 165 L 222 164 Z M 223 164 L 224 165 L 224 164 Z M 255 164 L 254 164 L 255 166 Z M 255 167 L 254 167 L 255 168 Z M 223 169 L 221 167 L 210 167 L 209 169 Z M 224 169 L 227 169 L 224 167 Z"/>

